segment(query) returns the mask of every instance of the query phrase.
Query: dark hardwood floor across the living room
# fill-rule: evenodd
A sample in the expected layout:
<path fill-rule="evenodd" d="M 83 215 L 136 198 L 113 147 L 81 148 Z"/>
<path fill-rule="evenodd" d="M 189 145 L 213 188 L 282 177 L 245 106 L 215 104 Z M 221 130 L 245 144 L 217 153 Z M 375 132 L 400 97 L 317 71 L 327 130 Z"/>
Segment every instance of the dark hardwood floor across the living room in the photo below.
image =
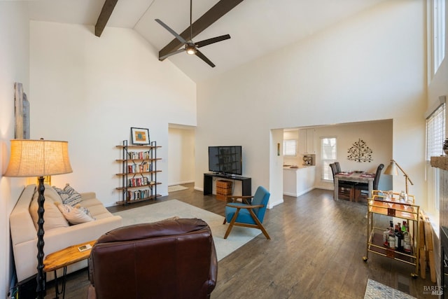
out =
<path fill-rule="evenodd" d="M 157 201 L 109 210 L 136 209 L 177 199 L 224 215 L 225 202 L 193 190 L 193 183 L 186 186 L 188 190 Z M 283 198 L 283 204 L 267 210 L 265 216 L 265 228 L 272 239 L 260 234 L 223 258 L 218 263 L 218 282 L 211 298 L 363 298 L 369 278 L 416 298 L 435 298 L 423 293 L 423 286 L 433 285 L 429 274 L 426 279 L 411 277 L 414 266 L 372 253 L 367 263 L 363 261 L 365 203 L 335 202 L 332 191 L 320 189 Z M 66 298 L 85 298 L 88 285 L 87 270 L 69 274 Z M 45 298 L 54 298 L 51 282 Z"/>

